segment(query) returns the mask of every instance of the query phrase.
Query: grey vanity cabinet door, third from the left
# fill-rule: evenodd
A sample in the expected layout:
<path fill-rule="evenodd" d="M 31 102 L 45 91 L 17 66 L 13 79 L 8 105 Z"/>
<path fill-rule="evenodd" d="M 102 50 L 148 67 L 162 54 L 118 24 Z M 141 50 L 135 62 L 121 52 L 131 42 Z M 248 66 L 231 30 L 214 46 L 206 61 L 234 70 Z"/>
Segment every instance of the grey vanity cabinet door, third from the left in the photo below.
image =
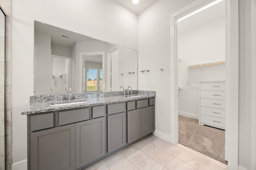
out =
<path fill-rule="evenodd" d="M 125 113 L 108 116 L 108 152 L 126 145 Z"/>

